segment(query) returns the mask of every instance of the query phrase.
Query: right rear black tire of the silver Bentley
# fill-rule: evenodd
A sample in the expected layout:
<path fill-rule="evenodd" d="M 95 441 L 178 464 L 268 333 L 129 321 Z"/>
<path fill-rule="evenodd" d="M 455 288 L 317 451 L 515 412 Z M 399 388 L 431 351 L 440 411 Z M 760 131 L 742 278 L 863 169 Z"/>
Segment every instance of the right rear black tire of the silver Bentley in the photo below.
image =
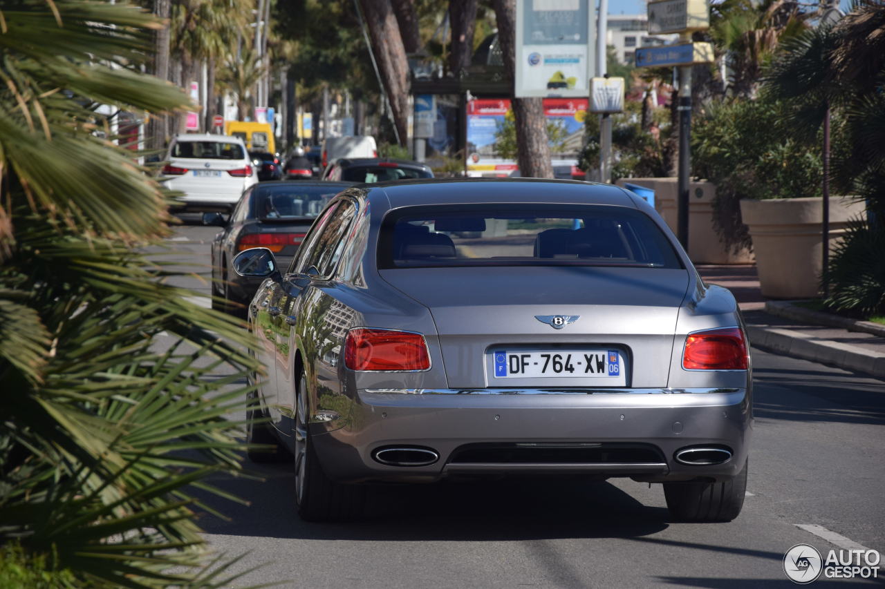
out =
<path fill-rule="evenodd" d="M 747 463 L 733 478 L 719 483 L 664 483 L 670 515 L 684 522 L 730 522 L 743 508 Z"/>

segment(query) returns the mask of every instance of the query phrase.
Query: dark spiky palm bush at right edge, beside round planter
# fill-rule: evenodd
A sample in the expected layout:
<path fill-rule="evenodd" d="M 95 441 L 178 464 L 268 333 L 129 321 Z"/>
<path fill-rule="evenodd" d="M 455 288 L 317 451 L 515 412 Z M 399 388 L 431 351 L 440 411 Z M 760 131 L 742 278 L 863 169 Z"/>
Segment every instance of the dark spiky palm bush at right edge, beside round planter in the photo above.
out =
<path fill-rule="evenodd" d="M 885 226 L 850 223 L 835 247 L 823 281 L 827 307 L 861 318 L 885 313 Z"/>

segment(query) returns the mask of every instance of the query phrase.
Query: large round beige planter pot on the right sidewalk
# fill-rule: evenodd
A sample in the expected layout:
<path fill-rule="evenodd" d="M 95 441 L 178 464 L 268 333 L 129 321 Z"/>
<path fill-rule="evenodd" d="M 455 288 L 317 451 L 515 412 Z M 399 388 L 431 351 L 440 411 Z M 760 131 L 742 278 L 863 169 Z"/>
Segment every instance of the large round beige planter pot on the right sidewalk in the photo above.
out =
<path fill-rule="evenodd" d="M 831 196 L 829 200 L 829 243 L 833 249 L 849 219 L 864 213 L 864 203 L 849 196 Z M 741 215 L 750 227 L 762 295 L 772 299 L 817 296 L 823 199 L 743 200 Z"/>

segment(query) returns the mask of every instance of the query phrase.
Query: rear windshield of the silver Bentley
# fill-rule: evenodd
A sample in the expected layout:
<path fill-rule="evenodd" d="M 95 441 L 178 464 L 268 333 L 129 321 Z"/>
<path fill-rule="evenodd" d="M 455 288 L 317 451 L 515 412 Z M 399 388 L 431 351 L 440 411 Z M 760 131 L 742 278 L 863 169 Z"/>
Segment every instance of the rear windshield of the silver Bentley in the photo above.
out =
<path fill-rule="evenodd" d="M 682 268 L 643 212 L 602 205 L 412 207 L 381 226 L 380 268 L 578 265 Z"/>

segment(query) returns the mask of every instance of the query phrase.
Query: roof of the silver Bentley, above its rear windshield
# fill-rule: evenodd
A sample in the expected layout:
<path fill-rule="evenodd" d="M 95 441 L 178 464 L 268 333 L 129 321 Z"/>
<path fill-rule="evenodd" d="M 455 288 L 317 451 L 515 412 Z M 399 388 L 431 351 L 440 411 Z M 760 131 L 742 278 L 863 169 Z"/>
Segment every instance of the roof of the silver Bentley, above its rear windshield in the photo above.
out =
<path fill-rule="evenodd" d="M 623 188 L 581 180 L 437 178 L 393 180 L 360 187 L 366 190 L 368 200 L 389 209 L 476 203 L 608 204 L 637 208 Z"/>

